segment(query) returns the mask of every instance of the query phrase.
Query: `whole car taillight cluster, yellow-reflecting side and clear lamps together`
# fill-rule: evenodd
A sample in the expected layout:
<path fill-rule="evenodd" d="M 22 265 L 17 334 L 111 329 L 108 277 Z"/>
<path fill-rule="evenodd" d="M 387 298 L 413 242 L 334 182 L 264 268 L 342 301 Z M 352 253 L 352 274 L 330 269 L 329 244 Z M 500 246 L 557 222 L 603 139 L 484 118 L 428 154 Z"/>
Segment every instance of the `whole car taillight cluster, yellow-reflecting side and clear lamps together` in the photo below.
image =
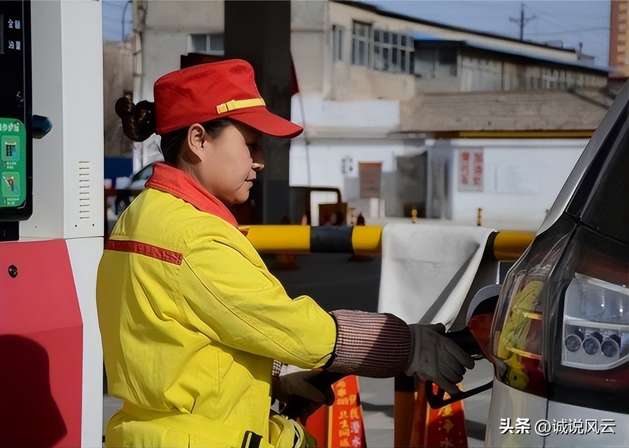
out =
<path fill-rule="evenodd" d="M 496 378 L 629 412 L 629 250 L 562 216 L 511 268 L 492 324 Z"/>

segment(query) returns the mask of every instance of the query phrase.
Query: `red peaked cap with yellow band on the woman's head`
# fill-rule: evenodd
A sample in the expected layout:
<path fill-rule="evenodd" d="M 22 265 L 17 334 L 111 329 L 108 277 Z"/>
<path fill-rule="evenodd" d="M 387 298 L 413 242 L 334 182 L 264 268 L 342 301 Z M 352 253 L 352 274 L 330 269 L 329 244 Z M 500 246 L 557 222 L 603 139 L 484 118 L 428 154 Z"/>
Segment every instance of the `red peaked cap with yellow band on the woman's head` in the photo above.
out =
<path fill-rule="evenodd" d="M 229 117 L 262 133 L 297 137 L 303 128 L 270 113 L 255 86 L 253 67 L 242 59 L 194 65 L 155 81 L 157 133 Z"/>

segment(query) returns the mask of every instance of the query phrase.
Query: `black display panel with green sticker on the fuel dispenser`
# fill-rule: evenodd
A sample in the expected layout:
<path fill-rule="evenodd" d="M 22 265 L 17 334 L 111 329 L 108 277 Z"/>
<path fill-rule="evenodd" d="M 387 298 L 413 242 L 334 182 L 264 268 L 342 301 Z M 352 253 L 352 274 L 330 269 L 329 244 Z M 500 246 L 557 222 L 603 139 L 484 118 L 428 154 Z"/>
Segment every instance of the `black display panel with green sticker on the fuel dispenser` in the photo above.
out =
<path fill-rule="evenodd" d="M 0 221 L 31 215 L 30 3 L 0 1 Z"/>

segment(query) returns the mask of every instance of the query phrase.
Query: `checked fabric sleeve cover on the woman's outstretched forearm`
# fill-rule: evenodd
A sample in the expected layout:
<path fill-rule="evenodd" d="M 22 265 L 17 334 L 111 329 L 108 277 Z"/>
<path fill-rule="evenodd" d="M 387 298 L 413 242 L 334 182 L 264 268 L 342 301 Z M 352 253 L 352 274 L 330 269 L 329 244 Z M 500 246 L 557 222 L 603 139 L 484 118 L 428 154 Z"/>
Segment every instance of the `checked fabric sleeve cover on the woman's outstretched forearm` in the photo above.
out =
<path fill-rule="evenodd" d="M 389 378 L 404 371 L 411 351 L 408 325 L 392 314 L 337 310 L 337 345 L 329 371 Z"/>

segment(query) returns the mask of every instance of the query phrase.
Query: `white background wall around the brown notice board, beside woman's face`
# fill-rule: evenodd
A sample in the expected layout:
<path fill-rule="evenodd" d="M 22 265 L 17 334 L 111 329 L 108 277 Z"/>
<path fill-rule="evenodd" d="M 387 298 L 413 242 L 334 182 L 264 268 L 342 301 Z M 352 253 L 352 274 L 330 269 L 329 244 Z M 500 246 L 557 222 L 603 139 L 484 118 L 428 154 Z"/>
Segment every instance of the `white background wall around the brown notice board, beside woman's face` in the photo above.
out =
<path fill-rule="evenodd" d="M 304 134 L 291 143 L 290 185 L 337 187 L 348 206 L 355 206 L 365 217 L 374 213 L 401 216 L 404 204 L 394 174 L 396 157 L 421 154 L 425 147 L 418 138 L 390 137 L 399 129 L 399 101 L 328 101 L 322 97 L 321 92 L 305 92 L 292 98 L 292 120 L 303 124 L 303 110 L 306 125 Z M 360 199 L 359 162 L 382 162 L 379 207 Z M 334 200 L 331 193 L 313 194 L 313 222 L 317 222 L 316 204 Z"/>

